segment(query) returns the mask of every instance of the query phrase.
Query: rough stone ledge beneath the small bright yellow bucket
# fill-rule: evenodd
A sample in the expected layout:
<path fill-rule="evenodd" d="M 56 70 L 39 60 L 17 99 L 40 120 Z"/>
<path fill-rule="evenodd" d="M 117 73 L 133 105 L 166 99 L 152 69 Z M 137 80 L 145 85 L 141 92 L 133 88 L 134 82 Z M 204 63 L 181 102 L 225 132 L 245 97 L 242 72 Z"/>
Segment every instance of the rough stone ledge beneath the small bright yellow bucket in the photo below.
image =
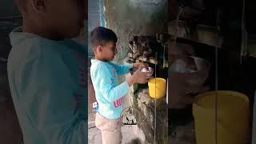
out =
<path fill-rule="evenodd" d="M 134 108 L 139 111 L 138 127 L 144 132 L 148 142 L 154 142 L 154 98 L 150 98 L 148 89 L 140 89 L 134 93 Z M 168 142 L 168 109 L 166 98 L 156 100 L 156 142 Z"/>

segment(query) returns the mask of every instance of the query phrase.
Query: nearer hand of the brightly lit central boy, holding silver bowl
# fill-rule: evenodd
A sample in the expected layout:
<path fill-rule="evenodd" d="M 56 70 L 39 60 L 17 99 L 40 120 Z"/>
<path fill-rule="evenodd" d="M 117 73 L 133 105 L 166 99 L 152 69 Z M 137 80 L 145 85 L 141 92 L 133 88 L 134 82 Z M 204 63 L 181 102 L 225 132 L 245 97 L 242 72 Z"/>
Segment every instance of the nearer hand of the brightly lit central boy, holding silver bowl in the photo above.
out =
<path fill-rule="evenodd" d="M 150 78 L 147 76 L 148 73 L 141 72 L 141 70 L 142 67 L 139 67 L 130 78 L 126 79 L 129 86 L 133 85 L 134 83 L 145 84 L 148 82 L 148 79 Z"/>

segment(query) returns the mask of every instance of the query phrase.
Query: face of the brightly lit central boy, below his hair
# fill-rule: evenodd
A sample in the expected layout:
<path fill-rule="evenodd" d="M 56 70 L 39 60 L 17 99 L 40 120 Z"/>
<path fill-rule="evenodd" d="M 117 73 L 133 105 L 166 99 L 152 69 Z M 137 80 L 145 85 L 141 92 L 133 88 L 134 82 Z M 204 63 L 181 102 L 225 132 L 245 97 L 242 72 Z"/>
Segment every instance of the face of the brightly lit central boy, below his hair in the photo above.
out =
<path fill-rule="evenodd" d="M 110 62 L 113 61 L 114 55 L 117 53 L 115 42 L 107 42 L 105 46 L 102 46 L 101 57 L 102 60 Z"/>

